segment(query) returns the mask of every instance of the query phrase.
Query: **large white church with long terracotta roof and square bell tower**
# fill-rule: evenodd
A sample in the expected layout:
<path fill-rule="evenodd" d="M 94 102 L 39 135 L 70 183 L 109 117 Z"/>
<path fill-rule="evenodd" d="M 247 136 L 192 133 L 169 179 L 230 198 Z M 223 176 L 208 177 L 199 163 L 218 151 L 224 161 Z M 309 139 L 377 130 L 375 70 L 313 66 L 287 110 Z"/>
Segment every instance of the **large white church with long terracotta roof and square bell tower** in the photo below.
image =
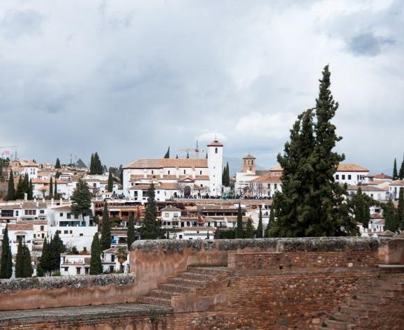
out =
<path fill-rule="evenodd" d="M 223 144 L 207 145 L 207 158 L 142 158 L 124 166 L 123 192 L 135 201 L 147 201 L 147 188 L 156 187 L 156 200 L 178 197 L 221 196 Z"/>

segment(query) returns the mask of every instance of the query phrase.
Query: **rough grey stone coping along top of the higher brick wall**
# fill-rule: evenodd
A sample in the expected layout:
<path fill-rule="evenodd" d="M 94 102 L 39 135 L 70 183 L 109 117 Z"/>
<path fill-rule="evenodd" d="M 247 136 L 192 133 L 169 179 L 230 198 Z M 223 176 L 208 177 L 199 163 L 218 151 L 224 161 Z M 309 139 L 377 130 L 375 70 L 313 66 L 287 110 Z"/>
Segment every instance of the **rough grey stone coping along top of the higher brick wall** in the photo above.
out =
<path fill-rule="evenodd" d="M 365 237 L 305 237 L 305 238 L 245 238 L 234 240 L 145 240 L 135 241 L 131 251 L 181 252 L 187 248 L 200 250 L 242 250 L 254 248 L 276 252 L 336 252 L 375 251 L 380 238 Z"/>

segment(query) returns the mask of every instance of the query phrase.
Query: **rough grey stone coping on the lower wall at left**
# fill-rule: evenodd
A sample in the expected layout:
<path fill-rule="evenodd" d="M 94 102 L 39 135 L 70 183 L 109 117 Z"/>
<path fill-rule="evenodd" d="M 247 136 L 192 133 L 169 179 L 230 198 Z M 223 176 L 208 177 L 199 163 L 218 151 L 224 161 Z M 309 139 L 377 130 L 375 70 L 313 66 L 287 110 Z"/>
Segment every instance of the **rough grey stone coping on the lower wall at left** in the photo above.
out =
<path fill-rule="evenodd" d="M 31 289 L 63 289 L 83 287 L 103 287 L 106 285 L 131 285 L 135 283 L 133 274 L 69 275 L 44 278 L 13 278 L 0 280 L 0 292 L 17 292 Z"/>

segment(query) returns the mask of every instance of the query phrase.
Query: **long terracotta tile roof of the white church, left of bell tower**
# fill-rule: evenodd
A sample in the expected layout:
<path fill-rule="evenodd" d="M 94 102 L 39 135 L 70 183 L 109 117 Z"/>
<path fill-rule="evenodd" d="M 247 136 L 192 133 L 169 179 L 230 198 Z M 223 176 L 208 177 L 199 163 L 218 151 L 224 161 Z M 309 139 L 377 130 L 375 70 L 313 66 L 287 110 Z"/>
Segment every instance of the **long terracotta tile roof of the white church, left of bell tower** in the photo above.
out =
<path fill-rule="evenodd" d="M 205 158 L 140 158 L 124 166 L 124 168 L 165 168 L 165 167 L 198 167 L 207 168 Z"/>

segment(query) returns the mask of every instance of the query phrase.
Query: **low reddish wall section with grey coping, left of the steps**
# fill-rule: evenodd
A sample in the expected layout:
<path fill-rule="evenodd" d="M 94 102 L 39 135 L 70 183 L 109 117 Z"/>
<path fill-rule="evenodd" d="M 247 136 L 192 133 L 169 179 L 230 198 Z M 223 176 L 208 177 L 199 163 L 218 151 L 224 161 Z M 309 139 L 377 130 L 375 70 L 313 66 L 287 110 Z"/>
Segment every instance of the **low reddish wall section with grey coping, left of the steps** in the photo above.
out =
<path fill-rule="evenodd" d="M 0 280 L 0 310 L 133 302 L 137 295 L 133 274 Z"/>

